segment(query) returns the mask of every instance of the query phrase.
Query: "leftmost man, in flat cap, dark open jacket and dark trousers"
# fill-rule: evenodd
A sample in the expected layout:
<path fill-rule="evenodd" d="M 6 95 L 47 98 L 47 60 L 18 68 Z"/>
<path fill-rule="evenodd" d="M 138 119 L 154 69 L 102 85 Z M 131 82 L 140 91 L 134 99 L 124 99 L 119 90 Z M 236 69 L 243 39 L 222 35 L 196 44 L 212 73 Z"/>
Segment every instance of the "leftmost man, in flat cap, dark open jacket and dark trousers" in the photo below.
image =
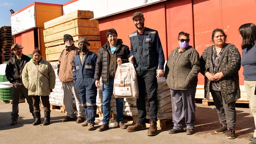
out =
<path fill-rule="evenodd" d="M 15 54 L 10 60 L 8 60 L 5 76 L 8 81 L 13 84 L 12 86 L 12 123 L 17 124 L 19 116 L 19 100 L 20 93 L 22 92 L 28 101 L 29 111 L 34 117 L 33 101 L 32 97 L 28 96 L 28 89 L 24 86 L 21 79 L 21 74 L 24 66 L 29 62 L 30 58 L 22 53 L 23 47 L 20 44 L 13 44 L 11 47 L 12 52 Z M 35 118 L 35 117 L 34 117 Z"/>

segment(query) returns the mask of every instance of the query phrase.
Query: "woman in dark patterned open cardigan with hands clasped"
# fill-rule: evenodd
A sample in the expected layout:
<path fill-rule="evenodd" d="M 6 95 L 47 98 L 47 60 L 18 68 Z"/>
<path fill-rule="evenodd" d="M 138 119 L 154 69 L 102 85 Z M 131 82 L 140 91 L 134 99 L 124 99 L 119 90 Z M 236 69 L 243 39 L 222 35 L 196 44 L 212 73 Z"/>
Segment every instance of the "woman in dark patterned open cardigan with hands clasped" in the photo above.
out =
<path fill-rule="evenodd" d="M 220 127 L 215 133 L 227 132 L 228 139 L 235 139 L 236 100 L 240 98 L 238 71 L 241 56 L 233 44 L 226 43 L 222 29 L 212 32 L 214 45 L 207 47 L 200 58 L 204 77 L 204 97 L 210 100 L 210 92 L 219 116 Z"/>

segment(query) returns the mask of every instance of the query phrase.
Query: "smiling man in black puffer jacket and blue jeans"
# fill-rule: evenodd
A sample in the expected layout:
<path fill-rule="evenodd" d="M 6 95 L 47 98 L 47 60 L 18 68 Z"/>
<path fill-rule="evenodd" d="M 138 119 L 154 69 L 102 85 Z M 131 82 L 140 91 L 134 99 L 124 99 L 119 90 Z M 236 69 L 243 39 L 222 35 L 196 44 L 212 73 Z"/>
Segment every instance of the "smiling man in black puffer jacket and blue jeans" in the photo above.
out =
<path fill-rule="evenodd" d="M 127 45 L 124 45 L 122 39 L 117 39 L 115 29 L 107 31 L 108 42 L 103 45 L 98 52 L 98 58 L 95 67 L 95 85 L 100 87 L 100 75 L 102 75 L 102 112 L 103 119 L 99 131 L 107 130 L 110 118 L 110 101 L 113 94 L 114 78 L 117 65 L 129 62 L 128 58 L 130 50 Z M 127 126 L 123 123 L 123 98 L 116 98 L 117 123 L 121 129 L 126 129 Z"/>

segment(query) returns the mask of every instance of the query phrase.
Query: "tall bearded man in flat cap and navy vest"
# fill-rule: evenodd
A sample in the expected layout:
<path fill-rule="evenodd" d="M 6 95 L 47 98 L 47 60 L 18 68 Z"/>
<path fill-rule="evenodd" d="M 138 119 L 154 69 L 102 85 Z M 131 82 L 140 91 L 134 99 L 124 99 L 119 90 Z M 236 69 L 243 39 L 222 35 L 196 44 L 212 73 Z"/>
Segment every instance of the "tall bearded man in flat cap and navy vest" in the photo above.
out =
<path fill-rule="evenodd" d="M 137 30 L 129 35 L 131 41 L 131 53 L 129 61 L 136 68 L 139 97 L 137 99 L 138 119 L 137 123 L 127 128 L 128 132 L 146 129 L 146 103 L 145 88 L 149 101 L 150 127 L 148 136 L 157 134 L 157 77 L 164 76 L 164 52 L 158 32 L 144 27 L 145 18 L 141 12 L 135 12 L 132 20 Z M 158 67 L 159 64 L 159 67 Z M 157 70 L 158 67 L 158 70 Z M 157 70 L 157 74 L 156 74 Z"/>

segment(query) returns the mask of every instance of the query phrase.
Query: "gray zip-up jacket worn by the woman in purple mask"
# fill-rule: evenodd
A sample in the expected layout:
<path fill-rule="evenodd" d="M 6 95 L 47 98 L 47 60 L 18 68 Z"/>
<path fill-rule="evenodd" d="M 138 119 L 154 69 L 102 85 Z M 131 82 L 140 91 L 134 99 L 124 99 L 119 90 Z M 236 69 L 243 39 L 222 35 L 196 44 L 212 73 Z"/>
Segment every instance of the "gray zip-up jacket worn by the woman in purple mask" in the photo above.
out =
<path fill-rule="evenodd" d="M 199 54 L 192 46 L 181 52 L 179 47 L 172 50 L 165 66 L 165 78 L 169 88 L 186 90 L 196 85 L 199 72 Z"/>

